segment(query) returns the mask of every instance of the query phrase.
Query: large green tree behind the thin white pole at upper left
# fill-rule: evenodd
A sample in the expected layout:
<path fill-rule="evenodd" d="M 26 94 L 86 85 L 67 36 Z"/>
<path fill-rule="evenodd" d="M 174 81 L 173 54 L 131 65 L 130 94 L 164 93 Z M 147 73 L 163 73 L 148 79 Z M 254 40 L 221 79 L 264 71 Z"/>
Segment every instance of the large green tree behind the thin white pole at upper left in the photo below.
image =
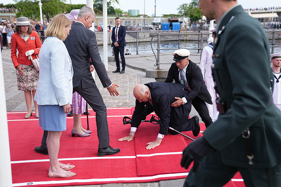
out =
<path fill-rule="evenodd" d="M 17 17 L 25 16 L 30 19 L 40 18 L 40 11 L 36 0 L 14 0 L 15 7 L 18 9 Z M 42 14 L 46 16 L 47 21 L 50 17 L 62 13 L 64 9 L 64 0 L 42 0 Z"/>

